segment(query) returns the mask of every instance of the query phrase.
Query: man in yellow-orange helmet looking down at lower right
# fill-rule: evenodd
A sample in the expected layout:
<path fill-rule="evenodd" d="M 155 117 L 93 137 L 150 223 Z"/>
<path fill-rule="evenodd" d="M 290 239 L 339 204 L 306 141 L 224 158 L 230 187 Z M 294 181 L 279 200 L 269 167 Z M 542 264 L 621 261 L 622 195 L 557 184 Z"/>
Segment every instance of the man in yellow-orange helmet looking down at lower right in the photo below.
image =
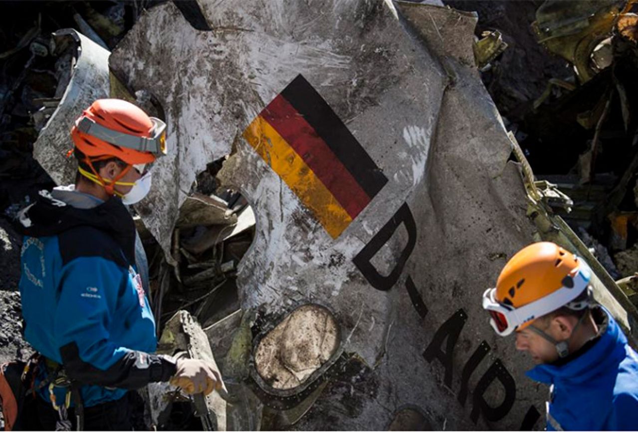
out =
<path fill-rule="evenodd" d="M 528 376 L 550 385 L 547 430 L 638 430 L 638 355 L 593 301 L 590 278 L 581 258 L 534 243 L 508 261 L 483 307 L 537 363 Z"/>

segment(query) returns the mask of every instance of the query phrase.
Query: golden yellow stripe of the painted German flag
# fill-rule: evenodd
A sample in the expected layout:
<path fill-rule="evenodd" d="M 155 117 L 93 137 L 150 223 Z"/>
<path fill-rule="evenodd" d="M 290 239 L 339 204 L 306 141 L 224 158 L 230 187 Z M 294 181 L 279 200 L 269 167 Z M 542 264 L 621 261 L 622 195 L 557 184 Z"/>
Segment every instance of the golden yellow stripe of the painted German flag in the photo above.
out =
<path fill-rule="evenodd" d="M 315 214 L 332 238 L 337 238 L 352 222 L 350 215 L 322 181 L 267 121 L 258 116 L 244 130 L 243 135 L 300 201 Z"/>

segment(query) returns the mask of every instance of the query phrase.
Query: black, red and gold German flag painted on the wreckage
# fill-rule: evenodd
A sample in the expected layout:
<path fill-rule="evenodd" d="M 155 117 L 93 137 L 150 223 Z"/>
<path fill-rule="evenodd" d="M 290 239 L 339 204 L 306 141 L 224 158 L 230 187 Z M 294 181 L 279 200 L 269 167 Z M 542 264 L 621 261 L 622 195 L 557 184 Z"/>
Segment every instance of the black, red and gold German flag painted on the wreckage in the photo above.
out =
<path fill-rule="evenodd" d="M 260 112 L 244 138 L 332 238 L 388 181 L 302 75 Z"/>

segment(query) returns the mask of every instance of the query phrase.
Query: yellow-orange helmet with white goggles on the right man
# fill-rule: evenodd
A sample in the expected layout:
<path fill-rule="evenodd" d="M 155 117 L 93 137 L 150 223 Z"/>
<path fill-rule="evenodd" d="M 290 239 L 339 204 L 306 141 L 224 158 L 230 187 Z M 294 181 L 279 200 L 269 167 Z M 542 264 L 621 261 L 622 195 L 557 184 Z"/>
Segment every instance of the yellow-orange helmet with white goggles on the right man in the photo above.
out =
<path fill-rule="evenodd" d="M 574 304 L 587 289 L 591 269 L 579 257 L 551 242 L 533 243 L 508 261 L 496 288 L 483 294 L 483 307 L 491 314 L 491 324 L 501 336 L 522 330 L 531 321 Z"/>

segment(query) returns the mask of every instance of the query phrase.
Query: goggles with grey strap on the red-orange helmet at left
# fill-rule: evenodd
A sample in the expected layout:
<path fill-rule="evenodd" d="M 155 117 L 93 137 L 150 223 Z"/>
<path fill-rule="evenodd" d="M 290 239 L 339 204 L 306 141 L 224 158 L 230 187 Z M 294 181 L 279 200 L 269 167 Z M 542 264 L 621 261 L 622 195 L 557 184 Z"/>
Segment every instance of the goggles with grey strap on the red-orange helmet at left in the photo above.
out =
<path fill-rule="evenodd" d="M 114 146 L 146 151 L 152 153 L 155 157 L 163 156 L 166 154 L 166 123 L 155 117 L 151 117 L 151 121 L 154 126 L 151 130 L 152 136 L 150 138 L 117 132 L 98 125 L 87 116 L 79 118 L 75 122 L 75 127 L 84 134 L 94 136 Z"/>

